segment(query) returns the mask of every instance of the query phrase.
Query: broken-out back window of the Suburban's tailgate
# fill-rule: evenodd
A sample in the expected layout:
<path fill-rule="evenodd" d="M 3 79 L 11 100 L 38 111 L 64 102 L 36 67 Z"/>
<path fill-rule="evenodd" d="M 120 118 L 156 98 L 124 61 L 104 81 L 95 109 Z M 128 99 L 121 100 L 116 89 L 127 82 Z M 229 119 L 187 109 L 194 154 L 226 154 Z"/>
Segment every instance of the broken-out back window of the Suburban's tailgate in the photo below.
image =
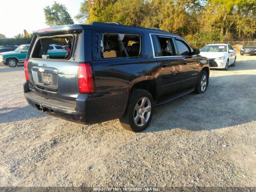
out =
<path fill-rule="evenodd" d="M 32 58 L 67 60 L 72 55 L 73 43 L 74 36 L 72 35 L 40 37 L 32 50 Z M 50 51 L 53 49 L 52 44 L 55 44 L 54 46 L 58 51 Z M 68 46 L 69 51 L 64 50 L 62 46 Z"/>

